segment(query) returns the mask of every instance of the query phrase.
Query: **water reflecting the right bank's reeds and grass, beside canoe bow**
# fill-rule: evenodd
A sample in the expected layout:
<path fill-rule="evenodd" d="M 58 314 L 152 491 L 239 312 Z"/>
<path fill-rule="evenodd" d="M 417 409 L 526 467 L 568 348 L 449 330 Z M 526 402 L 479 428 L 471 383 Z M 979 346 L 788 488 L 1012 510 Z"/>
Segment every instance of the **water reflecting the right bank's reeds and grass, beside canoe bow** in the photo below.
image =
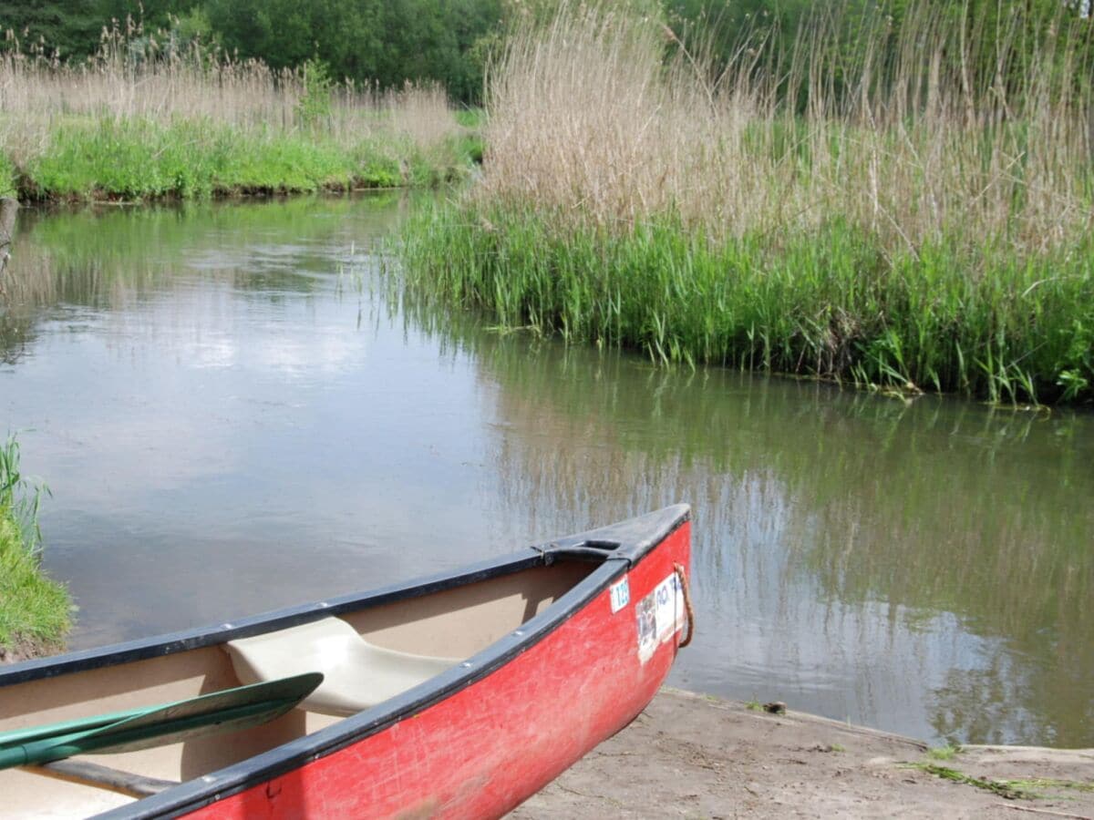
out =
<path fill-rule="evenodd" d="M 1090 743 L 1091 418 L 442 326 L 492 399 L 494 520 L 551 531 L 695 505 L 684 684 L 920 736 Z"/>

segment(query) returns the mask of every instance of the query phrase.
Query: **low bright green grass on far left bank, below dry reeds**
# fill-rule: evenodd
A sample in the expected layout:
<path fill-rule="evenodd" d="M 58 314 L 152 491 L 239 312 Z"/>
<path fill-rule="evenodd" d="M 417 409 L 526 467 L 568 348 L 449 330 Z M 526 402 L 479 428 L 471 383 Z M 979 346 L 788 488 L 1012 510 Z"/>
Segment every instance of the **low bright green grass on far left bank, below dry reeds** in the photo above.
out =
<path fill-rule="evenodd" d="M 319 132 L 208 119 L 62 121 L 24 168 L 31 199 L 159 199 L 435 185 L 469 166 L 454 138 L 423 151 L 394 136 L 346 145 Z M 3 168 L 0 167 L 0 174 Z"/>

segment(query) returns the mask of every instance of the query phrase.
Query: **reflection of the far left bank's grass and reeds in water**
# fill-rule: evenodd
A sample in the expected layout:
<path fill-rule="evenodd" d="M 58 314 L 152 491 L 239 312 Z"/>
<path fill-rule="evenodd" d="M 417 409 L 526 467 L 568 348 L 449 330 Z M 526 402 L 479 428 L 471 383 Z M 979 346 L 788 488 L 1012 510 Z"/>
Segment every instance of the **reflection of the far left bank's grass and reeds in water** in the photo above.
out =
<path fill-rule="evenodd" d="M 36 338 L 37 324 L 71 319 L 73 307 L 124 314 L 165 290 L 201 298 L 194 291 L 202 281 L 275 305 L 328 295 L 331 272 L 359 262 L 357 248 L 386 235 L 406 207 L 385 194 L 242 207 L 22 210 L 0 296 L 0 359 L 14 363 Z M 197 286 L 176 276 L 181 266 L 205 274 Z M 51 314 L 58 306 L 65 312 Z"/>

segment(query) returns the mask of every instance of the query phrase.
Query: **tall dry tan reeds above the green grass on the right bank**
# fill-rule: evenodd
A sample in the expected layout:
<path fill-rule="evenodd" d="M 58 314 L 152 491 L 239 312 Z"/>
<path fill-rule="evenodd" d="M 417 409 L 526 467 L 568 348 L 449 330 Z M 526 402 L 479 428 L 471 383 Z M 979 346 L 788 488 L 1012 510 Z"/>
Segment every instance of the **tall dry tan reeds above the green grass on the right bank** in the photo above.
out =
<path fill-rule="evenodd" d="M 586 224 L 671 212 L 712 237 L 838 216 L 911 253 L 1044 247 L 1092 226 L 1091 67 L 1069 27 L 1090 23 L 1061 14 L 1027 54 L 1016 23 L 955 26 L 920 3 L 899 31 L 868 26 L 854 59 L 817 17 L 789 54 L 743 39 L 725 66 L 687 48 L 666 65 L 659 21 L 566 5 L 492 69 L 478 196 Z M 986 37 L 992 71 L 973 67 Z"/>

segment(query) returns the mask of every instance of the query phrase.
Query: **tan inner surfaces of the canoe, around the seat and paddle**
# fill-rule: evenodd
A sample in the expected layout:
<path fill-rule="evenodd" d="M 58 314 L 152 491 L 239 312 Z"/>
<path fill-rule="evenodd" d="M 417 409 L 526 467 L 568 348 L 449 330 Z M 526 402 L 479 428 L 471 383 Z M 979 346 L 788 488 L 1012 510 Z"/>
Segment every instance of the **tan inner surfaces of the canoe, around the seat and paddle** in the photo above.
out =
<path fill-rule="evenodd" d="M 542 612 L 595 564 L 560 561 L 339 614 L 366 641 L 399 652 L 469 657 Z M 222 646 L 0 688 L 0 731 L 170 703 L 240 686 Z M 231 735 L 143 751 L 73 758 L 146 777 L 187 781 L 272 749 L 339 718 L 293 710 Z M 135 798 L 24 770 L 0 771 L 0 817 L 88 817 Z"/>

